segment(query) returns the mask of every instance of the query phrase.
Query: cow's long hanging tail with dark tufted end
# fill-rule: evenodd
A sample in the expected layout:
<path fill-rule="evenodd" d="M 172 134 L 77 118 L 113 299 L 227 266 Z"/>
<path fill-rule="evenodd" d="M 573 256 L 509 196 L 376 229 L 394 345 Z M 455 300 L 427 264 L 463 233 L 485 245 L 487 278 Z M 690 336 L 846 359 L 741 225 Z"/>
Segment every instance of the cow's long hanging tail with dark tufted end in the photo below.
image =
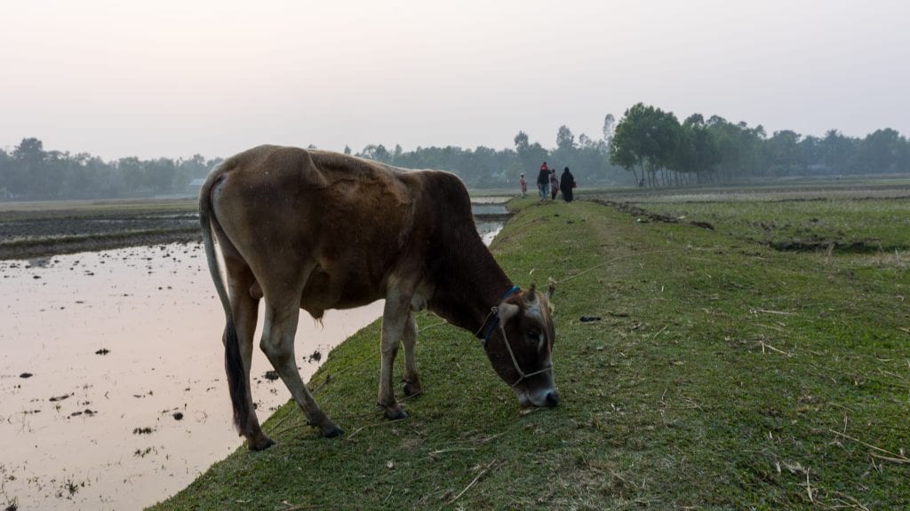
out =
<path fill-rule="evenodd" d="M 215 252 L 215 237 L 212 234 L 212 225 L 217 224 L 215 212 L 212 210 L 212 188 L 224 176 L 224 166 L 218 165 L 208 174 L 205 184 L 199 190 L 199 223 L 202 225 L 202 244 L 206 248 L 206 262 L 208 272 L 215 283 L 215 290 L 221 300 L 225 311 L 225 333 L 222 339 L 225 346 L 225 372 L 227 373 L 227 387 L 230 390 L 231 405 L 234 407 L 234 426 L 243 434 L 243 427 L 247 424 L 249 416 L 249 399 L 247 396 L 247 370 L 243 366 L 243 357 L 240 355 L 240 341 L 237 336 L 237 327 L 234 325 L 234 315 L 231 312 L 230 297 L 227 295 L 224 279 L 218 267 L 218 257 Z"/>

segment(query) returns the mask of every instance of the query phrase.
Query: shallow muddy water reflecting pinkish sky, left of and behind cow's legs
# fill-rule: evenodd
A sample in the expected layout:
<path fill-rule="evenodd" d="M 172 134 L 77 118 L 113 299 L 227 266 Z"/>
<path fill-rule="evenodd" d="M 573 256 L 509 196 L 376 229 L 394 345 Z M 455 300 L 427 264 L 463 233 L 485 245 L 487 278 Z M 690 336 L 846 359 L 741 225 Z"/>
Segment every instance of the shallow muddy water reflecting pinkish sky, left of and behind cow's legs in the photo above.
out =
<path fill-rule="evenodd" d="M 0 261 L 0 286 L 0 507 L 141 509 L 241 446 L 201 245 Z M 324 327 L 303 312 L 304 380 L 381 310 L 328 311 Z M 268 369 L 255 350 L 260 420 L 290 397 Z"/>

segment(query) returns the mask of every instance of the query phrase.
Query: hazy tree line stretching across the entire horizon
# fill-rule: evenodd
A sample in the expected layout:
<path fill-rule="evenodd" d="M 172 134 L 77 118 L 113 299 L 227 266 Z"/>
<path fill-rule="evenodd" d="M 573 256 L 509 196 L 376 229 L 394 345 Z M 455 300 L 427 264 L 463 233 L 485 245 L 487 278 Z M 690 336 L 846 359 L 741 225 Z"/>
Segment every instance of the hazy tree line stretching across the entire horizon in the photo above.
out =
<path fill-rule="evenodd" d="M 503 149 L 448 145 L 413 151 L 367 145 L 357 153 L 345 146 L 344 152 L 404 168 L 448 170 L 472 188 L 513 187 L 521 173 L 533 182 L 543 161 L 570 167 L 582 187 L 910 173 L 910 142 L 890 128 L 863 138 L 837 130 L 823 137 L 790 130 L 768 136 L 762 125 L 731 123 L 718 115 L 693 114 L 680 123 L 672 112 L 641 103 L 618 122 L 606 115 L 596 138 L 576 137 L 561 125 L 553 147 L 531 142 L 524 131 L 512 143 Z M 202 155 L 104 161 L 86 153 L 46 151 L 41 140 L 24 138 L 12 152 L 0 149 L 0 200 L 193 195 L 193 180 L 220 161 Z"/>

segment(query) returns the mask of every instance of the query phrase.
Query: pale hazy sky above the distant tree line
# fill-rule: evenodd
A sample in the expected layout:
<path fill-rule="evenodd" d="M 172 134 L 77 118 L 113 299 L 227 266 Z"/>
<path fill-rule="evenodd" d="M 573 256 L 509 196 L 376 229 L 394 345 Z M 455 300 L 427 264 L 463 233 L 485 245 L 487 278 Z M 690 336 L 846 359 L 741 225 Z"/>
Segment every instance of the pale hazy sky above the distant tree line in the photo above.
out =
<path fill-rule="evenodd" d="M 0 147 L 545 147 L 682 120 L 910 135 L 910 1 L 0 0 Z"/>

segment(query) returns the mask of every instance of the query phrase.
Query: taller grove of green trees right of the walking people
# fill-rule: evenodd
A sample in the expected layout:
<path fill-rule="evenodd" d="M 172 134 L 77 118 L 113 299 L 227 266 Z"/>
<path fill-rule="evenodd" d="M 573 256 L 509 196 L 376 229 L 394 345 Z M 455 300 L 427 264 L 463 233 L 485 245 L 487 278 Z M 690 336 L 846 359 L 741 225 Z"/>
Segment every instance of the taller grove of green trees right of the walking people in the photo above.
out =
<path fill-rule="evenodd" d="M 792 130 L 768 136 L 762 125 L 672 112 L 639 103 L 626 110 L 610 141 L 610 160 L 639 185 L 734 182 L 784 176 L 910 173 L 910 142 L 894 129 L 853 138 Z"/>

